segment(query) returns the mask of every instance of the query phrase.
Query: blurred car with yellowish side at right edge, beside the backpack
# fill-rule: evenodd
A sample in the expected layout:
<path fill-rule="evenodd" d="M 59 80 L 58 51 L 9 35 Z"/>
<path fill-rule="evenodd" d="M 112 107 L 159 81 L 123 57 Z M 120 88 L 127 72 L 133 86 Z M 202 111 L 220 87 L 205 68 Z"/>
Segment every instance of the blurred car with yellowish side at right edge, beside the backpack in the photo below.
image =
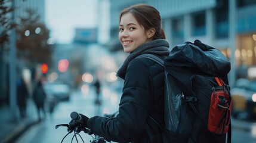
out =
<path fill-rule="evenodd" d="M 256 119 L 256 80 L 238 79 L 230 94 L 233 100 L 233 117 L 243 115 Z"/>

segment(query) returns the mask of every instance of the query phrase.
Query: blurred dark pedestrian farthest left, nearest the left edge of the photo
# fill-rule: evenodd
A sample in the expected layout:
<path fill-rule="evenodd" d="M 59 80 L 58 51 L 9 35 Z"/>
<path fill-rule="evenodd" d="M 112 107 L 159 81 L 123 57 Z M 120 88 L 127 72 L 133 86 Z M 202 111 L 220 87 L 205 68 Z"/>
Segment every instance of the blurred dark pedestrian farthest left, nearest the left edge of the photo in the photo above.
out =
<path fill-rule="evenodd" d="M 29 92 L 27 91 L 27 86 L 23 77 L 17 77 L 16 88 L 17 104 L 20 111 L 20 117 L 23 119 L 26 117 L 27 98 L 29 97 Z"/>

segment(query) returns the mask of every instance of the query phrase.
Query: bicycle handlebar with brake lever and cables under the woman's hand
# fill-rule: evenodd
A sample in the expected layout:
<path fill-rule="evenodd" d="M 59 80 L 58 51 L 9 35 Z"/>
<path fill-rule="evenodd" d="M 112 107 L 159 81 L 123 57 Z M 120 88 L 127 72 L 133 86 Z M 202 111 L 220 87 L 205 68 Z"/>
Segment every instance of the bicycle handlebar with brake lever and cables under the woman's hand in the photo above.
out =
<path fill-rule="evenodd" d="M 70 117 L 71 117 L 72 120 L 74 120 L 74 121 L 77 122 L 77 123 L 79 123 L 79 122 L 81 121 L 81 119 L 82 119 L 82 117 L 81 117 L 77 112 L 75 112 L 75 111 L 73 111 L 73 112 L 70 114 Z M 63 137 L 63 139 L 61 140 L 61 143 L 64 141 L 64 139 L 66 138 L 66 136 L 69 135 L 69 134 L 72 133 L 72 132 L 74 133 L 74 135 L 73 135 L 73 137 L 72 137 L 72 139 L 71 139 L 71 142 L 73 142 L 73 139 L 74 139 L 74 138 L 76 139 L 76 142 L 78 142 L 78 137 L 77 137 L 77 136 L 79 136 L 79 137 L 81 138 L 82 142 L 84 142 L 84 139 L 82 139 L 82 136 L 79 135 L 79 133 L 80 133 L 81 131 L 84 131 L 85 133 L 87 133 L 88 135 L 91 135 L 91 136 L 94 135 L 94 136 L 92 136 L 92 139 L 91 139 L 91 141 L 90 141 L 91 143 L 106 143 L 106 142 L 107 142 L 103 137 L 96 135 L 95 133 L 91 132 L 90 129 L 85 128 L 85 127 L 83 127 L 83 126 L 81 126 L 81 125 L 78 125 L 78 126 L 76 126 L 74 129 L 72 129 L 69 124 L 59 124 L 59 125 L 56 125 L 56 126 L 55 126 L 55 129 L 57 129 L 57 128 L 60 127 L 60 126 L 65 126 L 65 127 L 67 127 L 67 132 L 68 132 L 68 133 Z"/>

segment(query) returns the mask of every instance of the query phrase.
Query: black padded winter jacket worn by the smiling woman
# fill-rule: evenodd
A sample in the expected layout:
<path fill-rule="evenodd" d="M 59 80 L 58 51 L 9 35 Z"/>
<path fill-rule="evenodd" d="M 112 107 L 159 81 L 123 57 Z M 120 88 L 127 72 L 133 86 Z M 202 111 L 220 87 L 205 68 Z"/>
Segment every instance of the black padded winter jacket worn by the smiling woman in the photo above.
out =
<path fill-rule="evenodd" d="M 116 117 L 94 116 L 87 125 L 92 132 L 115 142 L 150 142 L 146 123 L 153 138 L 162 142 L 162 130 L 153 117 L 164 127 L 164 68 L 148 58 L 134 58 L 128 64 L 123 94 Z"/>

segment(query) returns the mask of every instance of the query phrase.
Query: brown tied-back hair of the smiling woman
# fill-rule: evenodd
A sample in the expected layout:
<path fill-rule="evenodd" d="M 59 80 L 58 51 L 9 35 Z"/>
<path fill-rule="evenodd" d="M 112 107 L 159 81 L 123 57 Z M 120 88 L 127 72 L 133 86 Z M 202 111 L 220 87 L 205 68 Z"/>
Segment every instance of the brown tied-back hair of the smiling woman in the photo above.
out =
<path fill-rule="evenodd" d="M 136 4 L 125 8 L 119 15 L 119 23 L 124 14 L 131 13 L 138 23 L 144 27 L 145 31 L 154 28 L 156 30 L 153 40 L 166 39 L 165 32 L 162 28 L 162 19 L 156 8 L 146 4 Z"/>

